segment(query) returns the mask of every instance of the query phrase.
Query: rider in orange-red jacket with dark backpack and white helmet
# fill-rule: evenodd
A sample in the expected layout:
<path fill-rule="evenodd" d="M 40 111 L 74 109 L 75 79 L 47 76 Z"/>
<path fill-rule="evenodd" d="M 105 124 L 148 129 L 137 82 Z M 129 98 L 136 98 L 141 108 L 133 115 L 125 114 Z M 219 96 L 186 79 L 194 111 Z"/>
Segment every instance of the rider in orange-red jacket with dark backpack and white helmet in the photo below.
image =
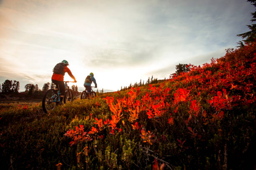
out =
<path fill-rule="evenodd" d="M 56 64 L 53 69 L 53 74 L 51 76 L 51 81 L 56 85 L 55 86 L 55 93 L 57 93 L 57 90 L 60 91 L 60 102 L 62 103 L 64 94 L 65 94 L 65 85 L 64 85 L 64 75 L 65 72 L 69 74 L 69 76 L 74 80 L 74 82 L 77 82 L 74 75 L 72 75 L 72 72 L 67 67 L 69 65 L 69 62 L 67 60 L 62 60 L 60 63 Z"/>

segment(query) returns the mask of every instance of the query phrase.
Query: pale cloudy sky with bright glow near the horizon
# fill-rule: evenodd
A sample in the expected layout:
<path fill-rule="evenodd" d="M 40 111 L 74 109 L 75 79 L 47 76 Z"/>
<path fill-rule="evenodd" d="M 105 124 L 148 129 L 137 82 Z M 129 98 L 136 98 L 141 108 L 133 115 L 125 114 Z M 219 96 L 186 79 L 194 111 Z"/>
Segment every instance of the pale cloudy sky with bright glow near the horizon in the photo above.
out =
<path fill-rule="evenodd" d="M 79 91 L 90 72 L 104 92 L 169 78 L 236 48 L 254 11 L 246 0 L 0 0 L 0 83 L 41 88 L 62 60 Z"/>

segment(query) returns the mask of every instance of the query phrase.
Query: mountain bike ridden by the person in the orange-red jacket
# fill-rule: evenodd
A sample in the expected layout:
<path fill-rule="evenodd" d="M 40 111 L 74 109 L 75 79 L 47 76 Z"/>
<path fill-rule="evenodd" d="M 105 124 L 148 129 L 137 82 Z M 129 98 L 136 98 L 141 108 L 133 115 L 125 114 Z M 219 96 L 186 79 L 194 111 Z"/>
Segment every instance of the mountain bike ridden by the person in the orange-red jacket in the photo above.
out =
<path fill-rule="evenodd" d="M 65 94 L 64 94 L 64 103 L 73 101 L 73 92 L 69 89 L 67 85 L 68 82 L 74 81 L 64 81 L 65 82 Z M 44 98 L 42 100 L 42 107 L 45 113 L 48 113 L 50 110 L 54 110 L 54 108 L 60 104 L 60 91 L 58 90 L 56 94 L 56 90 L 50 89 L 47 90 Z"/>

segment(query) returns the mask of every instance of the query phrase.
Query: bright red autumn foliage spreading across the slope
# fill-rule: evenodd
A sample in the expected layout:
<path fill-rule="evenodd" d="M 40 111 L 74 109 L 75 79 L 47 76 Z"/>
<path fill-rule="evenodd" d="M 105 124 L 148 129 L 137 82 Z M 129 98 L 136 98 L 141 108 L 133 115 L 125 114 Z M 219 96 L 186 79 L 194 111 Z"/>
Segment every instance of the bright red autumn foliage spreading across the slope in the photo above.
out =
<path fill-rule="evenodd" d="M 109 128 L 110 134 L 114 135 L 115 130 L 118 131 L 119 121 L 125 118 L 124 120 L 131 122 L 133 130 L 139 130 L 138 119 L 142 113 L 152 120 L 159 117 L 168 118 L 169 125 L 174 125 L 175 115 L 179 114 L 184 125 L 187 125 L 191 138 L 201 138 L 195 129 L 192 130 L 188 126 L 189 123 L 202 120 L 203 124 L 207 125 L 221 121 L 228 112 L 227 110 L 255 103 L 255 45 L 252 43 L 238 50 L 229 49 L 224 57 L 212 58 L 211 63 L 205 63 L 202 66 L 189 65 L 189 72 L 174 75 L 166 81 L 167 83 L 149 85 L 145 89 L 146 92 L 141 93 L 139 87 L 137 89 L 131 87 L 123 98 L 107 96 L 104 99 L 108 103 L 112 115 L 110 119 L 103 121 L 105 127 Z M 100 106 L 99 103 L 95 105 L 96 107 Z M 104 126 L 102 119 L 95 118 L 95 120 L 97 128 L 92 127 L 88 133 L 90 135 L 95 135 Z M 125 125 L 124 121 L 123 125 Z M 88 134 L 83 132 L 81 127 L 76 127 L 76 130 L 69 130 L 65 135 L 72 137 L 71 145 L 73 145 L 79 140 L 91 140 Z M 148 142 L 152 145 L 155 142 L 152 139 L 154 134 L 150 131 L 146 132 L 141 129 L 140 136 L 144 143 Z M 183 150 L 188 148 L 184 146 L 185 140 L 177 140 Z M 157 167 L 156 162 L 157 160 L 155 168 Z"/>

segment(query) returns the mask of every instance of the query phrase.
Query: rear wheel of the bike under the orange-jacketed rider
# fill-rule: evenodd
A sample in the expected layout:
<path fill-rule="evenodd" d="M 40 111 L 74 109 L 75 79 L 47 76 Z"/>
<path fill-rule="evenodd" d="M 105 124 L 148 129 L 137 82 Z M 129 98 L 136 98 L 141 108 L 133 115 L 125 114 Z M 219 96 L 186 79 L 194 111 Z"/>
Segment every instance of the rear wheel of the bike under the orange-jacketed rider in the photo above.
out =
<path fill-rule="evenodd" d="M 56 100 L 58 100 L 57 97 L 58 95 L 54 94 L 53 89 L 47 90 L 42 100 L 42 107 L 45 113 L 48 113 L 50 110 L 54 109 L 56 106 Z"/>

